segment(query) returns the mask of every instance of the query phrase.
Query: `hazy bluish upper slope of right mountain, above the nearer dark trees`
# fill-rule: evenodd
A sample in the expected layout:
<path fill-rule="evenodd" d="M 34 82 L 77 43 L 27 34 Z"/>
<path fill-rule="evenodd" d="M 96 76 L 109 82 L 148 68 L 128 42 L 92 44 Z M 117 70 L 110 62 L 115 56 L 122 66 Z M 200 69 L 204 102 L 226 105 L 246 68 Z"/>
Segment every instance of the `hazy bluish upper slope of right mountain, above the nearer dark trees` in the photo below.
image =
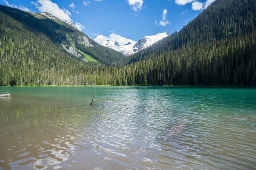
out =
<path fill-rule="evenodd" d="M 244 36 L 255 31 L 255 15 L 254 0 L 216 0 L 178 33 L 134 54 L 131 62 L 141 60 L 147 54 L 165 54 L 182 47 Z"/>

